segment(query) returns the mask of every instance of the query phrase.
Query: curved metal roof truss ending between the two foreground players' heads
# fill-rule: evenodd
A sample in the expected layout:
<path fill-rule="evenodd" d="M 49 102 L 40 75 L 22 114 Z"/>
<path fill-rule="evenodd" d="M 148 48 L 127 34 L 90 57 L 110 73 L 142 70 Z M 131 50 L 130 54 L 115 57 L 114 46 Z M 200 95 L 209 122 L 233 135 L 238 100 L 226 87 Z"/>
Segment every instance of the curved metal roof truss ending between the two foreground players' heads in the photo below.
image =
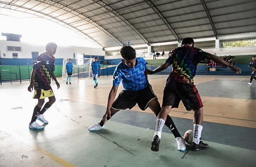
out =
<path fill-rule="evenodd" d="M 96 2 L 97 4 L 101 5 L 102 7 L 105 7 L 108 11 L 112 12 L 114 15 L 116 15 L 118 18 L 120 18 L 130 28 L 132 28 L 133 31 L 135 31 L 140 36 L 140 38 L 142 38 L 145 41 L 146 44 L 149 45 L 148 40 L 143 36 L 143 34 L 140 33 L 139 30 L 136 27 L 134 27 L 134 25 L 132 23 L 130 23 L 125 17 L 123 17 L 123 15 L 121 15 L 118 11 L 114 10 L 111 6 L 107 5 L 103 1 L 99 1 L 99 0 L 93 0 L 93 1 Z"/>

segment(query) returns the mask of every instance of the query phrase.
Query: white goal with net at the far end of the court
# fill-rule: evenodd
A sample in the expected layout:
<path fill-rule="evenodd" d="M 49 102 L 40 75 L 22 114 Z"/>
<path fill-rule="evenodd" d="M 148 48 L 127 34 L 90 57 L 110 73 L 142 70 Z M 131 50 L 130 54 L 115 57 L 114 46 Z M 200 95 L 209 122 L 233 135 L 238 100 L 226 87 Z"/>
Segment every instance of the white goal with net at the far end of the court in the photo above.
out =
<path fill-rule="evenodd" d="M 69 58 L 63 59 L 63 67 L 62 67 L 62 80 L 66 81 L 68 74 L 66 73 L 66 64 L 69 62 Z M 87 79 L 92 78 L 91 71 L 91 63 L 93 59 L 83 58 L 78 61 L 78 59 L 71 59 L 71 63 L 73 64 L 72 71 L 72 80 L 78 79 Z"/>

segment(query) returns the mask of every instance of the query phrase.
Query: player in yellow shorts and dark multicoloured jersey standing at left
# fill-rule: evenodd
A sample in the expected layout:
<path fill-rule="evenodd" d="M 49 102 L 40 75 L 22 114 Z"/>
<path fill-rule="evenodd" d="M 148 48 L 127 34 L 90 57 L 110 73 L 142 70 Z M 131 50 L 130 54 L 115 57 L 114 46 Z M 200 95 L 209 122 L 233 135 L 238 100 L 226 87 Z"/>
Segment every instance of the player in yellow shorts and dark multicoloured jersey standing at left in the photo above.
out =
<path fill-rule="evenodd" d="M 44 119 L 43 113 L 55 102 L 55 96 L 53 94 L 52 87 L 50 86 L 51 79 L 54 79 L 57 88 L 60 87 L 60 84 L 53 73 L 55 70 L 55 58 L 53 55 L 55 54 L 56 49 L 57 45 L 55 43 L 48 43 L 46 45 L 46 53 L 39 55 L 36 63 L 33 66 L 31 82 L 28 86 L 28 91 L 32 92 L 34 87 L 33 98 L 38 99 L 38 103 L 36 107 L 34 107 L 32 119 L 28 126 L 30 129 L 44 128 L 44 126 L 36 123 L 37 119 L 43 123 L 48 123 L 48 121 Z M 49 101 L 42 108 L 44 104 L 44 98 L 46 97 L 49 98 Z"/>

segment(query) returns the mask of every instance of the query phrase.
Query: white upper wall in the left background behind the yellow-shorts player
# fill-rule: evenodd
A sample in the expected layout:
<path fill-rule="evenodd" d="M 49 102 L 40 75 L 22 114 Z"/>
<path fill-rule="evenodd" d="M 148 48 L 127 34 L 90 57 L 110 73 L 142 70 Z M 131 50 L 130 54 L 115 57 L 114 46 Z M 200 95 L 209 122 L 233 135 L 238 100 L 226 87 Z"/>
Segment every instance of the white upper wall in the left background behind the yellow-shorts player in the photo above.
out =
<path fill-rule="evenodd" d="M 15 52 L 15 51 L 7 52 L 6 46 L 21 47 L 22 52 Z M 18 53 L 18 58 L 32 58 L 31 52 L 39 52 L 38 53 L 39 55 L 46 52 L 46 45 L 40 46 L 40 45 L 31 45 L 29 43 L 24 43 L 24 42 L 0 40 L 0 51 L 1 51 L 1 58 L 12 58 L 12 53 Z M 6 55 L 5 57 L 3 56 L 4 53 Z M 103 51 L 100 48 L 58 46 L 57 52 L 55 53 L 54 57 L 55 58 L 73 58 L 74 53 L 76 58 L 78 54 L 105 56 L 105 51 Z"/>

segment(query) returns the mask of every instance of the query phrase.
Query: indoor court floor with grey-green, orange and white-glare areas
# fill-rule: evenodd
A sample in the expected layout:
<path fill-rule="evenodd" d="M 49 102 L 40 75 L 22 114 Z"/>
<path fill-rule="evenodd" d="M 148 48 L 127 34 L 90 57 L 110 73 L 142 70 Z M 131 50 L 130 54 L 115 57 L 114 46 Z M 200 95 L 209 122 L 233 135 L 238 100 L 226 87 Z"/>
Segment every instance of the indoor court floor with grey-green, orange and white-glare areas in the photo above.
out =
<path fill-rule="evenodd" d="M 159 97 L 167 75 L 149 76 Z M 104 129 L 88 131 L 106 111 L 112 77 L 94 81 L 74 80 L 71 85 L 52 83 L 56 102 L 44 114 L 49 124 L 43 130 L 30 130 L 33 108 L 37 103 L 27 91 L 28 82 L 0 86 L 0 167 L 254 167 L 256 164 L 256 81 L 249 77 L 195 77 L 204 103 L 202 140 L 209 149 L 177 150 L 177 142 L 164 127 L 160 150 L 150 150 L 156 117 L 137 106 L 115 114 Z M 119 86 L 119 92 L 122 85 Z M 47 101 L 47 100 L 46 100 Z M 181 105 L 181 104 L 180 104 Z M 212 108 L 211 108 L 212 106 Z M 170 112 L 183 135 L 193 128 L 192 111 L 183 106 Z"/>

